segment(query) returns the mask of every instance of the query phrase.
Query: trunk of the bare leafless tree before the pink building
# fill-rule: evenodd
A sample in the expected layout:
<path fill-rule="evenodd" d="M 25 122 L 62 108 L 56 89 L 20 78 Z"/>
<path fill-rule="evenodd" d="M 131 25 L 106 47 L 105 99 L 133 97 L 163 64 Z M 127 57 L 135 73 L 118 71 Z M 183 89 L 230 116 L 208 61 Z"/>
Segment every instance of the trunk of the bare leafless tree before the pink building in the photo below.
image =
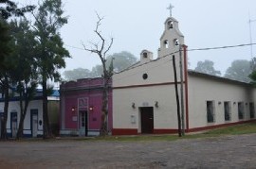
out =
<path fill-rule="evenodd" d="M 102 107 L 101 107 L 101 130 L 100 130 L 101 136 L 108 135 L 107 116 L 108 116 L 108 80 L 104 78 Z"/>

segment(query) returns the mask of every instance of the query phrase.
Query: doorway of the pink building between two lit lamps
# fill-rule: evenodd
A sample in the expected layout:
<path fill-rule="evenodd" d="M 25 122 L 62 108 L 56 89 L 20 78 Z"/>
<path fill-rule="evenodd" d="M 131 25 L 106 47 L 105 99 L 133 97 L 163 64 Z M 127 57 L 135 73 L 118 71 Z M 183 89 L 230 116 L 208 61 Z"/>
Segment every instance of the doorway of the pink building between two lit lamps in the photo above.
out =
<path fill-rule="evenodd" d="M 79 111 L 79 136 L 88 135 L 87 111 Z"/>

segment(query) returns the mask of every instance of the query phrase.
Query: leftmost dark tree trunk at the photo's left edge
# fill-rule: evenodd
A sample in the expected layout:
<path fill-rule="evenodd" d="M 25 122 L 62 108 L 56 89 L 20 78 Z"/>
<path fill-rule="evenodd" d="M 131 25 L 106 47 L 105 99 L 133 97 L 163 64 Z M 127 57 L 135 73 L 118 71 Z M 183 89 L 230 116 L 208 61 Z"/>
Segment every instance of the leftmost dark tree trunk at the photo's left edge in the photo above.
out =
<path fill-rule="evenodd" d="M 8 110 L 9 110 L 9 79 L 7 75 L 5 75 L 5 81 L 4 81 L 4 96 L 5 96 L 5 108 L 4 108 L 4 118 L 1 123 L 2 124 L 1 139 L 7 140 L 8 139 L 7 120 L 8 120 Z"/>

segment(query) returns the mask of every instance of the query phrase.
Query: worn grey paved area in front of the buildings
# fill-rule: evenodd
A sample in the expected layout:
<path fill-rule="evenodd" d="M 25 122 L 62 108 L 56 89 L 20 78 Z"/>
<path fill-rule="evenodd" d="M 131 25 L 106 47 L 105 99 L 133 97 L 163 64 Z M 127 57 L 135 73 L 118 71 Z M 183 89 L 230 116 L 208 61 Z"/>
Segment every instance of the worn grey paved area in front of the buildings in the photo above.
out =
<path fill-rule="evenodd" d="M 0 142 L 0 168 L 256 168 L 256 134 L 175 142 Z"/>

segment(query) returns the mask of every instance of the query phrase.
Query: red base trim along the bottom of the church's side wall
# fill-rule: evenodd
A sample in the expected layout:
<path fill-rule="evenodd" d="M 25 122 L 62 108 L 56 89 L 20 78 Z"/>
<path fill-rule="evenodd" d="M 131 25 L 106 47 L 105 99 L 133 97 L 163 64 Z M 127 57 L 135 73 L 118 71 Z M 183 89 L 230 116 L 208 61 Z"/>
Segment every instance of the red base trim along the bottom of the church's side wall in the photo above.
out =
<path fill-rule="evenodd" d="M 251 122 L 256 122 L 256 119 L 248 120 L 248 121 L 240 121 L 240 122 L 234 122 L 234 123 L 221 124 L 221 125 L 212 125 L 212 126 L 208 126 L 208 127 L 194 127 L 194 128 L 189 129 L 188 132 L 203 131 L 203 130 L 214 129 L 214 128 L 218 128 L 218 127 L 230 127 L 230 126 L 234 126 L 234 125 L 246 124 L 246 123 L 251 123 Z"/>

